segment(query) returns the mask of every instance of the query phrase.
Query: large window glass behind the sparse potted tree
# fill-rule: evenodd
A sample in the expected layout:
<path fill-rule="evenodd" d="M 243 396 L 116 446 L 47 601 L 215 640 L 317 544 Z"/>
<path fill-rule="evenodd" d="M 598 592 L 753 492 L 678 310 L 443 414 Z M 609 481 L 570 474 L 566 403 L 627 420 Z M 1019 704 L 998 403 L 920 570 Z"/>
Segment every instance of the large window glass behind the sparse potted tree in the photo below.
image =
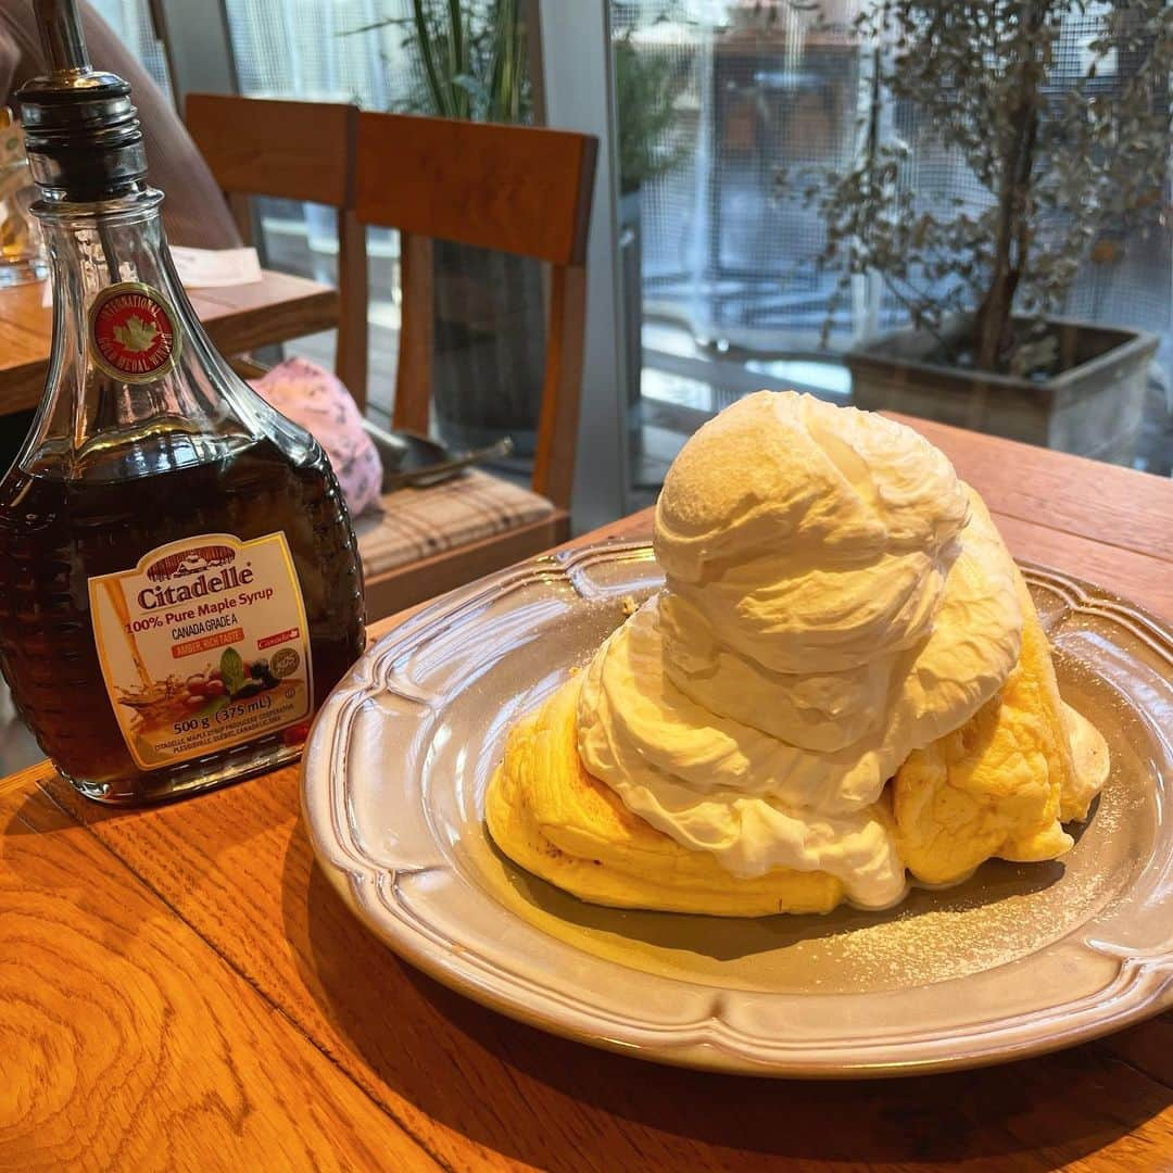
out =
<path fill-rule="evenodd" d="M 894 34 L 872 35 L 856 23 L 870 7 L 860 0 L 612 6 L 624 319 L 629 337 L 643 343 L 630 433 L 637 502 L 639 489 L 655 493 L 700 421 L 757 387 L 798 387 L 840 402 L 936 414 L 1167 474 L 1167 218 L 1121 216 L 1099 224 L 1052 314 L 1078 319 L 1080 347 L 1107 345 L 1117 327 L 1157 337 L 1153 361 L 1139 364 L 1130 391 L 1110 392 L 1117 399 L 1107 411 L 1090 407 L 1078 419 L 1040 420 L 1016 433 L 1015 421 L 975 419 L 943 393 L 936 402 L 865 401 L 868 389 L 853 384 L 845 355 L 909 326 L 910 287 L 945 307 L 972 305 L 969 258 L 951 243 L 929 263 L 914 262 L 903 286 L 880 276 L 852 277 L 842 248 L 827 255 L 830 221 L 822 202 L 859 164 L 868 135 L 893 150 L 889 182 L 909 224 L 923 217 L 951 223 L 958 213 L 977 219 L 995 204 L 962 152 L 941 144 L 921 103 L 874 84 L 899 46 Z M 1145 68 L 1153 46 L 1143 39 L 1127 52 L 1101 43 L 1105 19 L 1118 7 L 1072 6 L 1049 48 L 1042 94 L 1050 113 L 1035 158 L 1035 174 L 1045 179 L 1040 191 L 1066 182 L 1063 169 L 1072 165 L 1059 134 L 1051 134 L 1070 103 L 1089 100 L 1104 109 Z M 1167 170 L 1152 198 L 1168 201 Z M 1062 206 L 1042 209 L 1033 221 L 1038 242 L 1059 239 L 1071 223 Z M 638 367 L 639 348 L 633 353 Z M 1107 415 L 1119 420 L 1114 430 L 1105 430 Z"/>

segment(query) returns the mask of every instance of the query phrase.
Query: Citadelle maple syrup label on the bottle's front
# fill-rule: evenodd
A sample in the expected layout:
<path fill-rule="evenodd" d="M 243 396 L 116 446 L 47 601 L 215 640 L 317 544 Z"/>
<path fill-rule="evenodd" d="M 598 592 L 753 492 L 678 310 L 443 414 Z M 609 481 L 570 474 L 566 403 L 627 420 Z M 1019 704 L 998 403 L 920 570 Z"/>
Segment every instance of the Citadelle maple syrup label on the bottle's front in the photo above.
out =
<path fill-rule="evenodd" d="M 304 721 L 305 605 L 284 534 L 203 534 L 89 579 L 102 677 L 140 769 Z"/>

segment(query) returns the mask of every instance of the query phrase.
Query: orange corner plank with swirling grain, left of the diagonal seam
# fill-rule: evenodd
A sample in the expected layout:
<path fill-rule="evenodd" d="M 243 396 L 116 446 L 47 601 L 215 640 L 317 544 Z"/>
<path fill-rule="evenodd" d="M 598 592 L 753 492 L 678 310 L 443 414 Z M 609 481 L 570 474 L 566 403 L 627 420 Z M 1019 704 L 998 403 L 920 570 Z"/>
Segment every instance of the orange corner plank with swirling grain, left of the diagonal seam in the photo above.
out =
<path fill-rule="evenodd" d="M 256 1168 L 428 1166 L 42 792 L 0 794 L 0 1165 L 174 1169 L 231 1153 Z"/>

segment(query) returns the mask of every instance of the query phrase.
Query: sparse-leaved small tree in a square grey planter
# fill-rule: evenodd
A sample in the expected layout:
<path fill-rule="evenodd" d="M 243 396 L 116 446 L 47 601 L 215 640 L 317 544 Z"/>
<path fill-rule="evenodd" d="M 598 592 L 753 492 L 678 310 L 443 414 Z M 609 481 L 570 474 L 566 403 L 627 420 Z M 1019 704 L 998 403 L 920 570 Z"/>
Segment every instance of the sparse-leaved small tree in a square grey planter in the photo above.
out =
<path fill-rule="evenodd" d="M 855 401 L 1131 460 L 1155 339 L 1053 316 L 1165 209 L 1173 8 L 870 0 L 855 25 L 862 150 L 806 196 L 841 267 L 830 314 L 865 277 L 909 320 L 847 354 Z M 913 135 L 976 196 L 911 176 Z"/>

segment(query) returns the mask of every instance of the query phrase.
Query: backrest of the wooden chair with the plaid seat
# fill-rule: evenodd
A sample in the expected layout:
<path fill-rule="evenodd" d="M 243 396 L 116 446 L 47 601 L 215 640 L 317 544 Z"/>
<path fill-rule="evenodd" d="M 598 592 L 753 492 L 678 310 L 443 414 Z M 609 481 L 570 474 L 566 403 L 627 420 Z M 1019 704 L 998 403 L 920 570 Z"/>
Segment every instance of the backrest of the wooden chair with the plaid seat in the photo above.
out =
<path fill-rule="evenodd" d="M 597 147 L 594 136 L 567 130 L 402 114 L 358 117 L 358 218 L 400 231 L 395 426 L 428 427 L 432 239 L 547 262 L 549 328 L 534 488 L 562 509 L 574 486 Z"/>

